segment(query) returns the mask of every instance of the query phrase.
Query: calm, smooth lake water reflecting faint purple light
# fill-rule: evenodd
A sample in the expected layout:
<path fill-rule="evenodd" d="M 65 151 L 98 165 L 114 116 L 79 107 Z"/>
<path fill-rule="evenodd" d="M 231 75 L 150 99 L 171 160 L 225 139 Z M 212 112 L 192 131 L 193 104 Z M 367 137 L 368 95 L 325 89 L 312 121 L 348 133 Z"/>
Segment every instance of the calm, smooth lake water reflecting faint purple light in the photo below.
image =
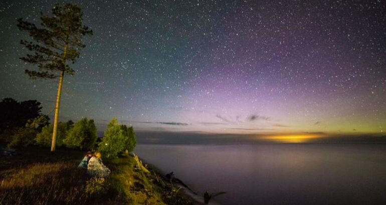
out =
<path fill-rule="evenodd" d="M 384 144 L 137 145 L 210 204 L 386 204 Z"/>

